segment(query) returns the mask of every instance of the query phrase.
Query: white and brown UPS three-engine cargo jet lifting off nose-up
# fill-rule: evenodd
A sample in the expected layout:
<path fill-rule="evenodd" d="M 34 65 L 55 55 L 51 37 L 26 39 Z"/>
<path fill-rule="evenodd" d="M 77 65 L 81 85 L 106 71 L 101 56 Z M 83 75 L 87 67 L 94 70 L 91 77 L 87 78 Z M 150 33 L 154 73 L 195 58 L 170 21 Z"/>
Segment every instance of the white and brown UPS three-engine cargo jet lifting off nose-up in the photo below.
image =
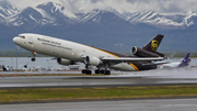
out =
<path fill-rule="evenodd" d="M 157 60 L 163 60 L 164 55 L 157 52 L 163 35 L 158 34 L 142 48 L 132 47 L 134 57 L 126 54 L 120 54 L 107 49 L 102 49 L 93 46 L 83 45 L 70 41 L 65 41 L 46 35 L 24 33 L 19 34 L 13 38 L 13 42 L 32 52 L 35 62 L 35 54 L 44 54 L 57 57 L 57 63 L 60 65 L 74 65 L 77 62 L 84 63 L 85 69 L 82 74 L 91 75 L 90 65 L 96 66 L 95 74 L 109 75 L 108 68 L 123 71 L 138 71 L 155 69 Z"/>

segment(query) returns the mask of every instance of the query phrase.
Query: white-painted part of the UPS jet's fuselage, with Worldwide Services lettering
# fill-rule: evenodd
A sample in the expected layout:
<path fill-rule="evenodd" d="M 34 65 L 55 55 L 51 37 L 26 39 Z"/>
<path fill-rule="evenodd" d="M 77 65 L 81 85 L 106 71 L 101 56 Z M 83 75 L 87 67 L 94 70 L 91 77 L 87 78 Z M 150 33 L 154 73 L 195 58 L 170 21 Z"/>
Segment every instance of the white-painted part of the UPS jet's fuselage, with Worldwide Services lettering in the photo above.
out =
<path fill-rule="evenodd" d="M 94 56 L 97 58 L 118 57 L 95 47 L 39 34 L 20 34 L 13 38 L 13 42 L 31 52 L 70 59 L 73 62 L 84 63 L 84 58 L 82 56 Z M 134 65 L 127 63 L 114 64 L 109 68 L 125 71 L 139 70 Z"/>

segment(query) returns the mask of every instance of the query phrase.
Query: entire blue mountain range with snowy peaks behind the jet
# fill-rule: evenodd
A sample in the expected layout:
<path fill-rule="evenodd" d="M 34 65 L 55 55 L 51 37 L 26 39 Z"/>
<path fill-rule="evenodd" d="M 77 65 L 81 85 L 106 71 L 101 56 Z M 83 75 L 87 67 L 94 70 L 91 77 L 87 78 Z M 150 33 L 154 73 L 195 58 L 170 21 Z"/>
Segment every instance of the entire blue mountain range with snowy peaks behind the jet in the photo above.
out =
<path fill-rule="evenodd" d="M 38 33 L 95 47 L 129 53 L 157 34 L 165 35 L 160 52 L 196 52 L 197 12 L 157 13 L 143 10 L 119 13 L 94 9 L 71 13 L 61 3 L 16 8 L 0 1 L 0 51 L 14 51 L 12 38 L 20 33 Z"/>

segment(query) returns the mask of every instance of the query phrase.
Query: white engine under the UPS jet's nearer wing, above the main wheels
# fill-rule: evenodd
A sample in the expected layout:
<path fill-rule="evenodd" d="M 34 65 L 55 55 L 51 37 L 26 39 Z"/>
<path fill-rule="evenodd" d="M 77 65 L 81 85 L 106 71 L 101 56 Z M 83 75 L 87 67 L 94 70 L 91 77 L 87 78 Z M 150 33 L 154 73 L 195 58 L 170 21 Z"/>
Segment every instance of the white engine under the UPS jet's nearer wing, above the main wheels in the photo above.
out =
<path fill-rule="evenodd" d="M 86 56 L 85 59 L 84 59 L 84 63 L 88 64 L 88 65 L 99 66 L 102 62 L 97 57 Z"/>

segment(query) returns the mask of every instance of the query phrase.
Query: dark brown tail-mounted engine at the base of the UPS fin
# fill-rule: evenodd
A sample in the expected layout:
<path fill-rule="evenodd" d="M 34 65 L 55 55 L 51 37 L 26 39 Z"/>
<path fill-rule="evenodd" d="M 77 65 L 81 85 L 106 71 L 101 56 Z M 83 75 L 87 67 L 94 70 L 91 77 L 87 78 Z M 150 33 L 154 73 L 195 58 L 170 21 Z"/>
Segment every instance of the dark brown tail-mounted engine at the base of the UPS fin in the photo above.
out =
<path fill-rule="evenodd" d="M 136 46 L 131 48 L 130 53 L 138 57 L 164 57 L 161 53 L 149 52 Z"/>

